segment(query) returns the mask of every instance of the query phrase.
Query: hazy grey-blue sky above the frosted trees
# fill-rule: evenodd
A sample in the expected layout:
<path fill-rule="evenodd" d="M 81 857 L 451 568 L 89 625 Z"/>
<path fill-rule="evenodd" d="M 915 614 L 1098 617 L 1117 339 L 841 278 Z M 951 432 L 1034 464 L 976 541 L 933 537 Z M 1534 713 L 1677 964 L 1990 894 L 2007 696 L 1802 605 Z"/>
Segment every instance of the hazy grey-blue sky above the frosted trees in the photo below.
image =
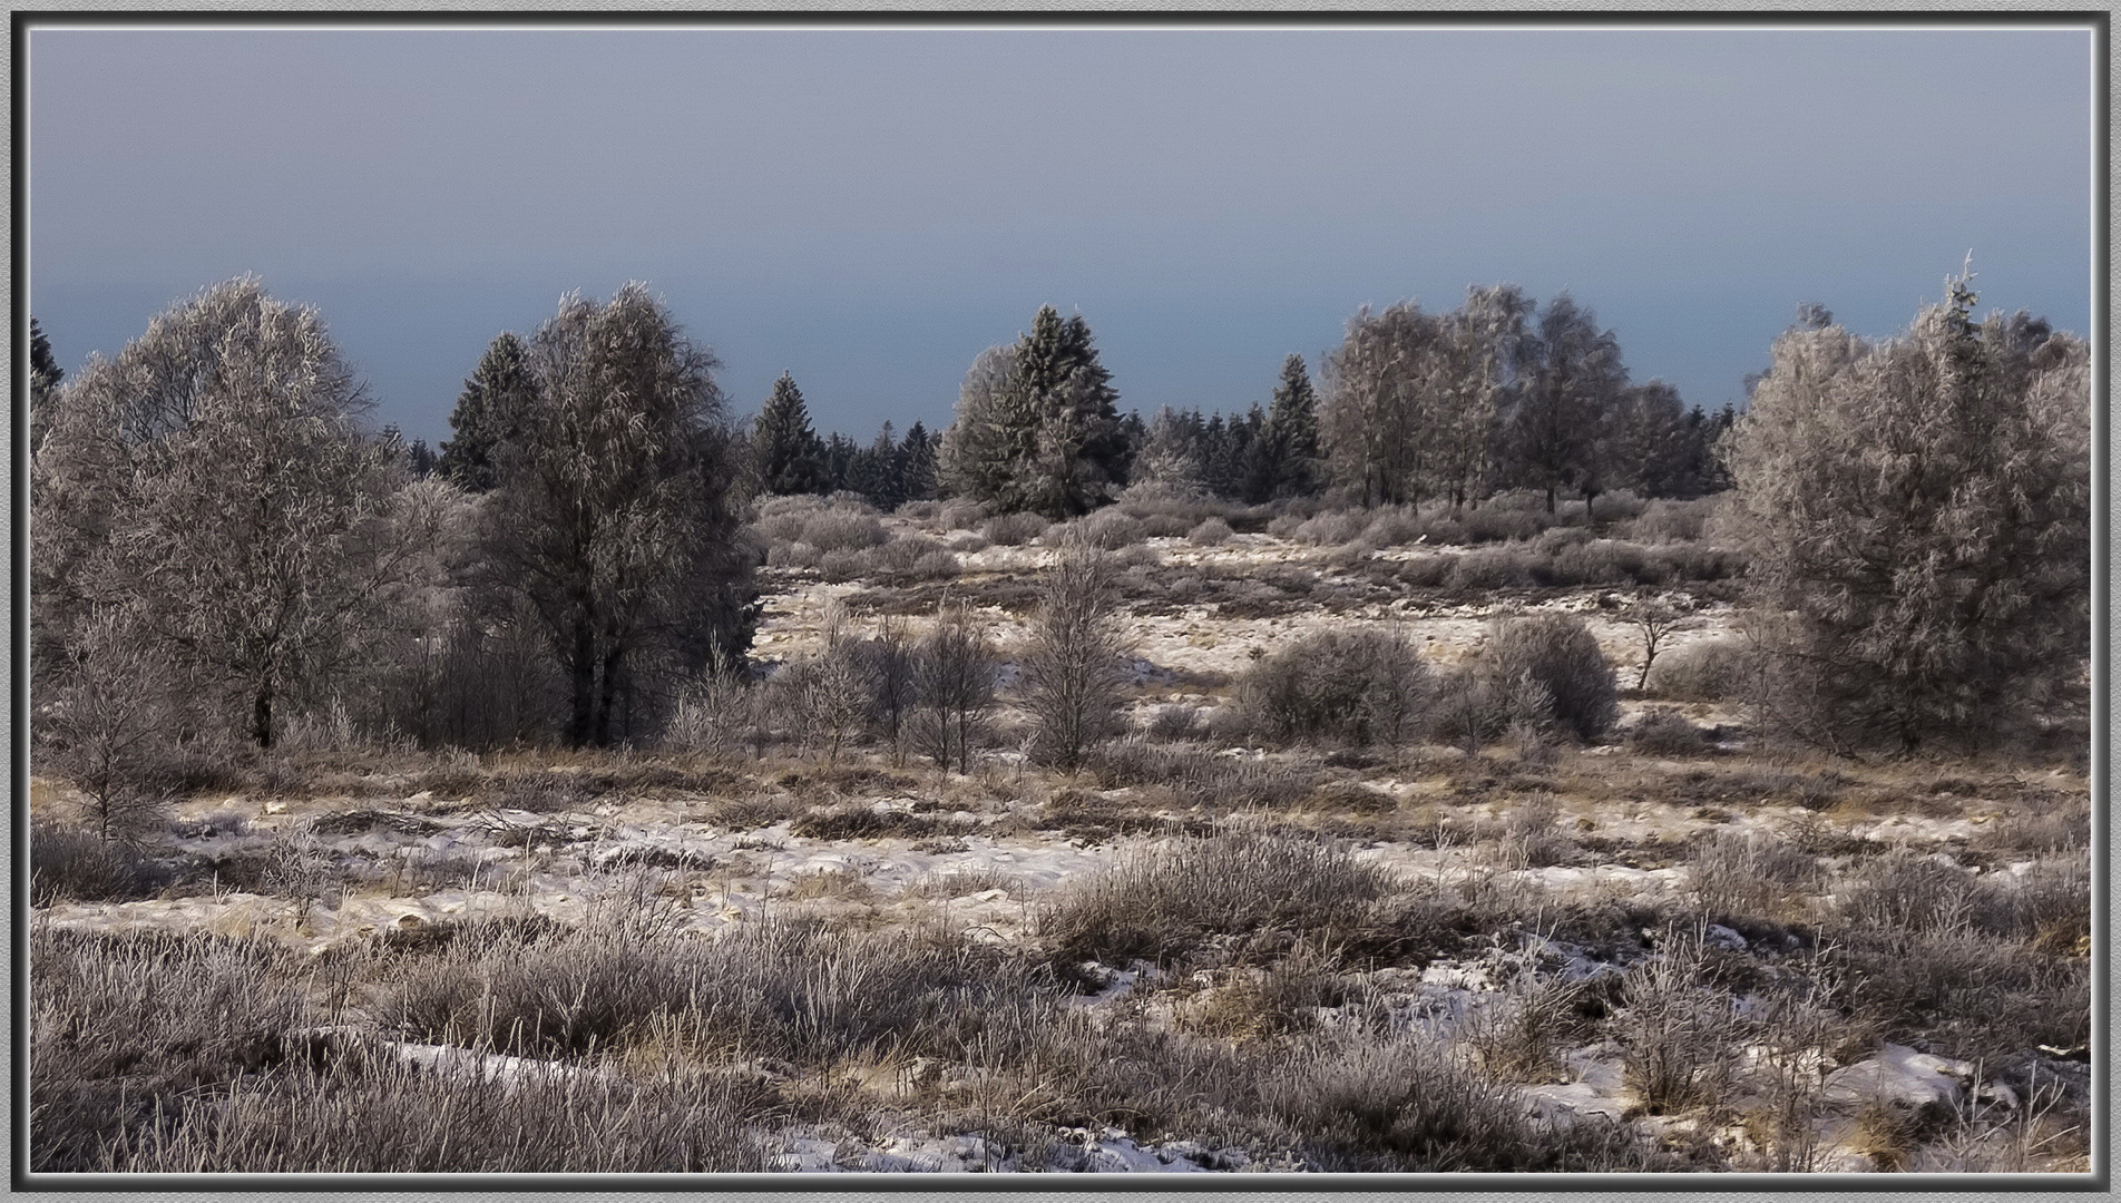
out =
<path fill-rule="evenodd" d="M 732 412 L 950 418 L 1041 303 L 1120 407 L 1264 403 L 1360 306 L 1570 291 L 1635 380 L 1803 301 L 2091 320 L 2091 36 L 1915 28 L 76 28 L 28 49 L 68 371 L 255 272 L 439 443 L 486 344 L 645 280 Z"/>

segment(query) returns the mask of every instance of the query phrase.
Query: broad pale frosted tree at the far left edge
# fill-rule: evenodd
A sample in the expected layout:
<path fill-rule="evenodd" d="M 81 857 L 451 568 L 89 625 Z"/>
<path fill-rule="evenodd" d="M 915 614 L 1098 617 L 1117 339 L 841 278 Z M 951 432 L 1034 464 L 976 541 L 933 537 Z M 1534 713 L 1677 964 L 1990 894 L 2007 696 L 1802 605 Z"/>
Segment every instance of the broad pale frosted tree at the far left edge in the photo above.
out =
<path fill-rule="evenodd" d="M 356 429 L 322 318 L 229 280 L 91 359 L 53 409 L 32 473 L 47 653 L 95 607 L 138 605 L 271 747 L 276 704 L 361 651 L 414 554 L 388 520 L 399 448 Z"/>

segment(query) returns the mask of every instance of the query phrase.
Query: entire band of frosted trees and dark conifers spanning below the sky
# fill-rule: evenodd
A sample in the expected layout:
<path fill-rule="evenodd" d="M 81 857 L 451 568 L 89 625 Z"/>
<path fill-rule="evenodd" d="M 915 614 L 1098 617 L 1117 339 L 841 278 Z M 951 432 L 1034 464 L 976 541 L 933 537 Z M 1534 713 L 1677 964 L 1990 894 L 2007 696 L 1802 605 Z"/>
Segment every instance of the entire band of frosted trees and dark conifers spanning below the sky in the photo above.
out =
<path fill-rule="evenodd" d="M 426 463 L 367 426 L 316 310 L 255 278 L 72 378 L 32 322 L 36 732 L 76 777 L 157 738 L 269 749 L 327 707 L 428 747 L 653 738 L 744 664 L 757 494 L 1069 518 L 1130 486 L 1457 507 L 1735 484 L 1763 711 L 1833 747 L 1979 740 L 2081 685 L 2089 356 L 1973 303 L 1962 276 L 1890 339 L 1809 306 L 1752 407 L 1705 416 L 1629 382 L 1567 295 L 1472 289 L 1357 312 L 1321 388 L 1287 356 L 1264 409 L 1152 422 L 1118 414 L 1084 318 L 1041 308 L 974 361 L 940 439 L 855 446 L 787 376 L 738 422 L 717 359 L 628 284 L 496 337 Z"/>

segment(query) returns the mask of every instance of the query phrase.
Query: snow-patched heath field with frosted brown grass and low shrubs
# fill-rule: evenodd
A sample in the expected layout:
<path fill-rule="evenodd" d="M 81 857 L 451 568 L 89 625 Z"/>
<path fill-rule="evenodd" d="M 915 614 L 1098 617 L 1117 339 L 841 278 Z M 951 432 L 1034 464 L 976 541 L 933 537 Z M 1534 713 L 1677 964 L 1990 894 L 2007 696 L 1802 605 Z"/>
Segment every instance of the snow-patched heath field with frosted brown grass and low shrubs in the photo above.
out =
<path fill-rule="evenodd" d="M 34 1169 L 2085 1171 L 2083 726 L 1760 738 L 1710 505 L 1080 520 L 1130 679 L 1075 772 L 1012 687 L 1058 533 L 817 503 L 759 522 L 753 656 L 971 607 L 971 772 L 730 687 L 611 753 L 316 719 L 132 844 L 36 779 Z M 1451 681 L 1540 613 L 1614 664 L 1610 734 L 1230 723 L 1309 634 Z"/>

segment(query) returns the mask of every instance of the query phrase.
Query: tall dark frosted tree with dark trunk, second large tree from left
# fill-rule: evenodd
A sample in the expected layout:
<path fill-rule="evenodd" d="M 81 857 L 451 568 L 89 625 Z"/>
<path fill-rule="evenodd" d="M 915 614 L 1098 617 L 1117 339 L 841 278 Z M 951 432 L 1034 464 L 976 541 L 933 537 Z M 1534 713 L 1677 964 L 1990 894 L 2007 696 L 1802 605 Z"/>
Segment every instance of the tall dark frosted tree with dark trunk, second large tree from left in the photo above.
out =
<path fill-rule="evenodd" d="M 691 679 L 751 643 L 715 367 L 638 282 L 602 306 L 568 293 L 530 339 L 537 403 L 503 448 L 484 547 L 560 660 L 571 747 L 645 730 L 658 666 Z"/>

